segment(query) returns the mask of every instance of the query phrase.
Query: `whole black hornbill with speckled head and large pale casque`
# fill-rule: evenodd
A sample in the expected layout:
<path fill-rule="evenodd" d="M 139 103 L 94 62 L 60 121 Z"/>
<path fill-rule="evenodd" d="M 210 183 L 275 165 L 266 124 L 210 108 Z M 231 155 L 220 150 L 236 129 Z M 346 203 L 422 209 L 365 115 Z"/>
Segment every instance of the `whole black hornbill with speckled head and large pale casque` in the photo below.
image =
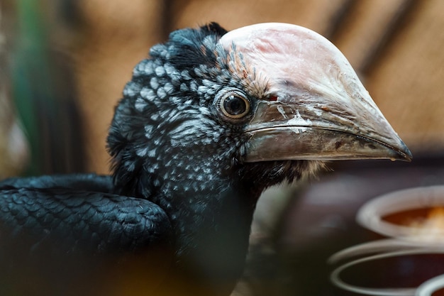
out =
<path fill-rule="evenodd" d="M 325 160 L 411 160 L 340 51 L 284 23 L 172 32 L 107 145 L 112 176 L 0 183 L 1 295 L 229 295 L 265 188 Z"/>

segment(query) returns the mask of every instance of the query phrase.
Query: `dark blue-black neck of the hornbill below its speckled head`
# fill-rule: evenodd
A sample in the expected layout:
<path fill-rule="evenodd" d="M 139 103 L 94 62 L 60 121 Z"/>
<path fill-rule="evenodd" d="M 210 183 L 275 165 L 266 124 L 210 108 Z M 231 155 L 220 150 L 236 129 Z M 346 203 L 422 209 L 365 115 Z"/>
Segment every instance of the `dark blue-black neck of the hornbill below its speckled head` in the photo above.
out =
<path fill-rule="evenodd" d="M 206 282 L 235 283 L 243 271 L 259 194 L 248 182 L 217 172 L 194 182 L 184 186 L 183 180 L 170 180 L 152 199 L 170 216 L 177 267 Z"/>

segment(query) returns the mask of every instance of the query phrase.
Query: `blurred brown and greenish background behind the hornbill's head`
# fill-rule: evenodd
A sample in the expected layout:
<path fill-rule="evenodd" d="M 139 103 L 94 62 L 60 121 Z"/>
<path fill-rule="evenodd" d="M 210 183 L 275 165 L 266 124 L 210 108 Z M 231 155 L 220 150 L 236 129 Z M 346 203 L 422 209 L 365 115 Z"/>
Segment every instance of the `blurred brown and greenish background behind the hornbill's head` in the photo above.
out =
<path fill-rule="evenodd" d="M 26 114 L 40 114 L 48 121 L 35 132 L 38 135 L 34 139 L 34 132 L 24 124 L 23 129 L 31 138 L 30 161 L 40 161 L 30 173 L 109 172 L 106 133 L 113 106 L 131 78 L 133 66 L 148 55 L 151 45 L 165 40 L 170 31 L 209 21 L 217 21 L 228 30 L 251 23 L 287 22 L 326 35 L 348 57 L 382 113 L 414 155 L 440 153 L 444 147 L 443 1 L 32 2 L 37 1 L 0 2 L 4 40 L 0 43 L 1 55 L 7 57 L 1 59 L 2 87 L 13 89 L 9 103 L 21 109 L 21 121 L 28 120 Z M 32 37 L 36 32 L 40 39 Z M 26 70 L 35 60 L 40 65 Z M 27 83 L 17 80 L 37 85 L 29 87 L 32 83 L 28 83 L 28 94 L 18 94 Z M 48 95 L 48 89 L 52 94 Z M 30 108 L 30 102 L 37 100 L 36 92 L 41 94 L 34 108 L 40 108 L 40 113 L 23 111 L 23 106 Z M 16 97 L 20 96 L 17 103 Z M 54 106 L 47 106 L 48 102 Z M 41 109 L 45 111 L 42 113 Z M 11 129 L 10 117 L 1 115 L 1 121 L 9 122 L 0 124 L 1 128 Z M 42 122 L 30 122 L 28 126 L 39 124 Z M 0 133 L 1 146 L 9 142 L 6 134 Z M 23 146 L 23 142 L 18 145 Z M 56 157 L 60 159 L 54 160 Z M 23 164 L 18 166 L 26 168 Z M 12 174 L 18 172 L 10 167 L 7 170 Z"/>

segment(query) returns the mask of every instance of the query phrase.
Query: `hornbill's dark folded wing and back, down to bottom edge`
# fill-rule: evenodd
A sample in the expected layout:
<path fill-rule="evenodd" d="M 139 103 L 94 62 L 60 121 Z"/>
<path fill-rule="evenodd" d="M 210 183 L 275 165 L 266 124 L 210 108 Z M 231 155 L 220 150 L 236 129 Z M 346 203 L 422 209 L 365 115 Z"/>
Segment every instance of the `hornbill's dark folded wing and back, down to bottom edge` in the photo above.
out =
<path fill-rule="evenodd" d="M 110 280 L 128 282 L 133 270 L 165 273 L 167 215 L 146 199 L 111 192 L 109 177 L 96 175 L 1 182 L 1 295 L 94 295 L 113 287 Z"/>

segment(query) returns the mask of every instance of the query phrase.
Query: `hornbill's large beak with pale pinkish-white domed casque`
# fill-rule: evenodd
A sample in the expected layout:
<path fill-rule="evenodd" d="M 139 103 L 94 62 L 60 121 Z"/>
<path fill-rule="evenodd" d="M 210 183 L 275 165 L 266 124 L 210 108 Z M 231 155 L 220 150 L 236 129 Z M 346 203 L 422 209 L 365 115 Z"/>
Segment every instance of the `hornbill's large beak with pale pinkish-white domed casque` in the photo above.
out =
<path fill-rule="evenodd" d="M 307 28 L 260 23 L 223 35 L 267 84 L 245 162 L 412 158 L 340 50 Z"/>

